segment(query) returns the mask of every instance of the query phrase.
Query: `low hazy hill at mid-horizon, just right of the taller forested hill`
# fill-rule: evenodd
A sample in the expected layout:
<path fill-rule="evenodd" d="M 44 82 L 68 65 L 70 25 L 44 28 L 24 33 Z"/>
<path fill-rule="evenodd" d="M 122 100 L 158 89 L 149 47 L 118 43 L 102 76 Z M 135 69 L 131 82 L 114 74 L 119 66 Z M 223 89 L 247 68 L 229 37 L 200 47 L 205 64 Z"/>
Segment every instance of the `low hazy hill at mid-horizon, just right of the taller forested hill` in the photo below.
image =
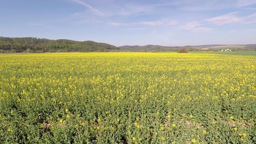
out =
<path fill-rule="evenodd" d="M 158 45 L 146 45 L 146 46 L 119 46 L 123 51 L 173 51 L 180 46 L 158 46 Z"/>

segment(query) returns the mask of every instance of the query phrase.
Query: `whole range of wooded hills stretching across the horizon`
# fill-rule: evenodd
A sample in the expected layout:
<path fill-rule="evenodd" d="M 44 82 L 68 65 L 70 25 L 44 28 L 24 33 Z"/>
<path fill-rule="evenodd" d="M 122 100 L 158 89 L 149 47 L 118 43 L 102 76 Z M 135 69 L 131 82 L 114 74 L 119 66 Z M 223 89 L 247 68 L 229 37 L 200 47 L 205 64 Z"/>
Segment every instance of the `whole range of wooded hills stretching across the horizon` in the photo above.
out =
<path fill-rule="evenodd" d="M 211 44 L 199 46 L 159 46 L 159 45 L 146 45 L 146 46 L 113 46 L 106 43 L 94 41 L 74 41 L 74 40 L 50 40 L 46 38 L 9 38 L 0 36 L 0 53 L 2 52 L 26 52 L 29 48 L 30 52 L 115 52 L 115 51 L 176 51 L 178 48 L 186 48 L 189 51 L 194 50 L 218 50 L 221 48 L 232 48 L 236 50 L 256 49 L 256 44 L 237 44 L 237 45 L 224 45 L 224 44 Z M 208 50 L 207 49 L 207 50 Z"/>

